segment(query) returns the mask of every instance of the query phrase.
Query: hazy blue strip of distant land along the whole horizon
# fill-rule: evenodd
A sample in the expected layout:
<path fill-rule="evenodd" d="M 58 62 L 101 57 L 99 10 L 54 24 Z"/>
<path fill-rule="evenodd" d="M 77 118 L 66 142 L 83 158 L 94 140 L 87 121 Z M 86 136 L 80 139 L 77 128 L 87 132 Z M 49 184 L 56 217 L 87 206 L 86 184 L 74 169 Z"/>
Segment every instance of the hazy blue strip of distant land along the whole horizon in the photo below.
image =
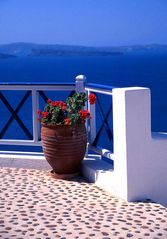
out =
<path fill-rule="evenodd" d="M 167 53 L 167 45 L 148 44 L 116 47 L 86 47 L 70 45 L 47 45 L 34 43 L 11 43 L 0 45 L 0 58 L 19 56 L 117 56 L 126 53 Z"/>

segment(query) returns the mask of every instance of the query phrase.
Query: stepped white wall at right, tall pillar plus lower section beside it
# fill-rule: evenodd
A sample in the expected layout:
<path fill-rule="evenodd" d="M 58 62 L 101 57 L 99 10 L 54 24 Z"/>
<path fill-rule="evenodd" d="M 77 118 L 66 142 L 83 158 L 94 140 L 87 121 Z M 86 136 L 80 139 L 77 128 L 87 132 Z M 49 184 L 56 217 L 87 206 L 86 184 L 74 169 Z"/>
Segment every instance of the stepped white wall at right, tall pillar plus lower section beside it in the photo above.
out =
<path fill-rule="evenodd" d="M 150 90 L 113 89 L 113 192 L 167 205 L 167 135 L 151 136 Z"/>

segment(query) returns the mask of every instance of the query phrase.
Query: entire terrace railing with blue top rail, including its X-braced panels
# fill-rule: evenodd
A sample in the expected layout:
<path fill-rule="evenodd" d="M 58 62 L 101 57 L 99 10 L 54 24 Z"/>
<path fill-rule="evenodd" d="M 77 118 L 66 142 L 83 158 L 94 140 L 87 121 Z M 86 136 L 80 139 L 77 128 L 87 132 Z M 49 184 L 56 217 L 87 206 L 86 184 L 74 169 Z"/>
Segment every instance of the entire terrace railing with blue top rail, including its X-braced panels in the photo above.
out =
<path fill-rule="evenodd" d="M 53 96 L 62 100 L 75 90 L 86 90 L 97 96 L 96 106 L 88 104 L 92 116 L 87 123 L 89 149 L 112 159 L 112 89 L 99 84 L 85 85 L 84 80 L 75 83 L 0 83 L 0 144 L 41 146 L 38 108 Z"/>

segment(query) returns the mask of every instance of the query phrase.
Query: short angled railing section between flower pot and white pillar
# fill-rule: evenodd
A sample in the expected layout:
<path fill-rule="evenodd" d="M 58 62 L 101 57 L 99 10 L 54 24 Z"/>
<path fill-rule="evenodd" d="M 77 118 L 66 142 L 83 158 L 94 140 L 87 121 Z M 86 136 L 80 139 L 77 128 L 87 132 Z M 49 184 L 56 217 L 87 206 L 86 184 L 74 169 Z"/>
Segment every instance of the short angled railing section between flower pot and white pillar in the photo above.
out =
<path fill-rule="evenodd" d="M 112 86 L 100 85 L 100 84 L 87 84 L 85 90 L 88 92 L 88 95 L 91 93 L 96 94 L 97 101 L 95 105 L 88 103 L 88 110 L 91 113 L 91 120 L 89 124 L 89 143 L 88 147 L 90 150 L 113 160 L 113 129 L 112 129 Z M 100 101 L 100 95 L 105 95 L 107 98 Z M 109 102 L 108 98 L 111 99 Z M 107 101 L 106 101 L 107 100 Z M 104 112 L 105 108 L 105 112 Z M 99 110 L 97 113 L 97 109 Z M 109 116 L 111 120 L 109 121 Z M 101 122 L 97 123 L 97 118 L 101 118 Z M 110 149 L 104 148 L 104 146 L 98 145 L 98 141 L 102 136 L 102 132 L 106 132 L 106 137 L 103 137 L 103 140 L 108 138 L 110 143 Z"/>

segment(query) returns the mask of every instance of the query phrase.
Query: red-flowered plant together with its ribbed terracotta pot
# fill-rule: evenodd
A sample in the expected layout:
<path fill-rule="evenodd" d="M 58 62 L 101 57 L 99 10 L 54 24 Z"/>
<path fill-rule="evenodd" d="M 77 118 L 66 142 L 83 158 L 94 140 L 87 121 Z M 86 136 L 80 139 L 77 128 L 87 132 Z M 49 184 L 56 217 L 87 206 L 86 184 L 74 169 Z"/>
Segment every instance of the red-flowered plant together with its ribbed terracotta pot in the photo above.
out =
<path fill-rule="evenodd" d="M 87 144 L 85 127 L 90 113 L 84 109 L 86 101 L 94 104 L 96 96 L 74 93 L 65 102 L 47 100 L 44 111 L 38 110 L 42 124 L 41 140 L 46 160 L 55 178 L 69 178 L 78 174 Z"/>

